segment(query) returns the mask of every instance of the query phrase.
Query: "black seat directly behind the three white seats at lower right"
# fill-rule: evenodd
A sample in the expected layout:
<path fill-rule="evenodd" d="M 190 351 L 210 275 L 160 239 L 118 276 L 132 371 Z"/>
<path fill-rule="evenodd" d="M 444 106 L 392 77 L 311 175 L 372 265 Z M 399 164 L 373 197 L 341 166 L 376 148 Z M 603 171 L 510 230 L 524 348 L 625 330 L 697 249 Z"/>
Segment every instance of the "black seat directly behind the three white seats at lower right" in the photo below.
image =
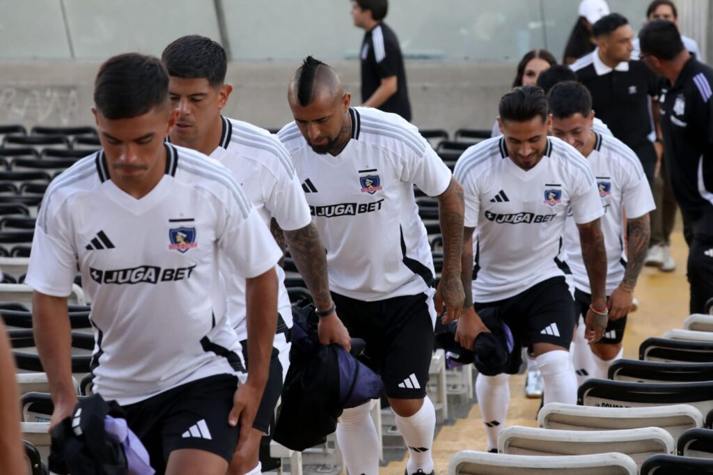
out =
<path fill-rule="evenodd" d="M 577 404 L 595 407 L 647 407 L 690 404 L 701 414 L 713 409 L 713 381 L 639 383 L 588 379 L 577 392 Z"/>

